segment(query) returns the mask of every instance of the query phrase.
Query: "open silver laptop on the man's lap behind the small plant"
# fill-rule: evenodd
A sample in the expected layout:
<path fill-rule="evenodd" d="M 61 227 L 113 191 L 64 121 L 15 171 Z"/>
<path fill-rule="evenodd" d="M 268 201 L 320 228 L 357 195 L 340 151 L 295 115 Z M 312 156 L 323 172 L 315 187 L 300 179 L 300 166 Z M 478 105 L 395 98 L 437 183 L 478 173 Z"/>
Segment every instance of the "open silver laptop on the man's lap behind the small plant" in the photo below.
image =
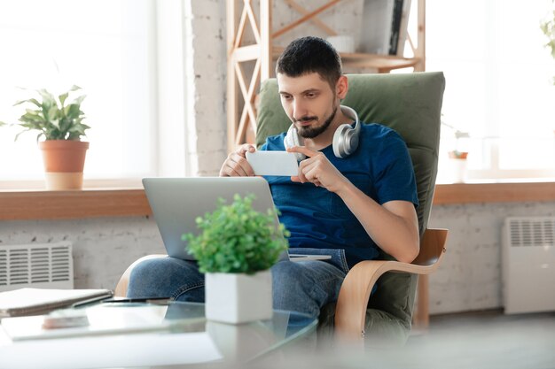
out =
<path fill-rule="evenodd" d="M 218 198 L 231 204 L 233 196 L 254 194 L 253 208 L 266 213 L 274 208 L 270 186 L 262 177 L 195 177 L 195 178 L 145 178 L 145 194 L 168 256 L 194 260 L 187 252 L 187 242 L 182 234 L 199 234 L 195 219 L 215 211 Z M 274 226 L 279 232 L 279 220 L 274 215 Z M 279 260 L 322 260 L 329 255 L 295 255 L 284 252 Z"/>

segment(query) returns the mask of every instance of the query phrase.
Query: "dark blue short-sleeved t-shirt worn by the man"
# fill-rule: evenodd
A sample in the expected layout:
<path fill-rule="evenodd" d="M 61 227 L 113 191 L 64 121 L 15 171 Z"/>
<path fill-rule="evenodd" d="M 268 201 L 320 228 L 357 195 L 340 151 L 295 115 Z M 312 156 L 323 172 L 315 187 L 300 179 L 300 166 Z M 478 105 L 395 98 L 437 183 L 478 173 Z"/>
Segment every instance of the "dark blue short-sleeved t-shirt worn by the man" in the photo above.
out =
<path fill-rule="evenodd" d="M 348 158 L 336 158 L 332 145 L 320 151 L 378 204 L 404 200 L 418 206 L 414 170 L 401 136 L 379 124 L 361 128 L 358 149 Z M 284 138 L 285 133 L 268 137 L 261 150 L 285 150 Z M 279 220 L 291 232 L 290 248 L 345 250 L 349 268 L 378 258 L 378 246 L 340 196 L 312 183 L 292 182 L 290 177 L 265 178 L 281 212 Z"/>

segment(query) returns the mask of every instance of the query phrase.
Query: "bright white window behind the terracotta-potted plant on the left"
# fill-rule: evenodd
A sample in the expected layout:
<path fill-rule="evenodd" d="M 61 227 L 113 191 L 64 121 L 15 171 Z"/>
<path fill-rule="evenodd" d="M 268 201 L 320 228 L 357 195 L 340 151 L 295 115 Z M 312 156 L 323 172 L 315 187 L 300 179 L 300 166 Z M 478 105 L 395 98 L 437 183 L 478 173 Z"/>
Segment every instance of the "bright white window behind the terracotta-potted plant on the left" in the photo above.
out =
<path fill-rule="evenodd" d="M 156 12 L 152 0 L 0 2 L 0 120 L 23 88 L 82 88 L 91 127 L 86 179 L 157 173 Z M 0 181 L 42 179 L 36 135 L 0 128 Z"/>

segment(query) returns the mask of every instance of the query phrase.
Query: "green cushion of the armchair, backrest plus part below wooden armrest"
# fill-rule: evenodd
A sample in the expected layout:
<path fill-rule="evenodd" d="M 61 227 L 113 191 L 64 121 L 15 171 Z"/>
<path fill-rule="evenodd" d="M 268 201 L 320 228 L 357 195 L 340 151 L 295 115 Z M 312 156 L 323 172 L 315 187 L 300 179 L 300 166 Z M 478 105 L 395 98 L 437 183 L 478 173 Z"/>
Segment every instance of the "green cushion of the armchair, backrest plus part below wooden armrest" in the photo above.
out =
<path fill-rule="evenodd" d="M 440 118 L 445 79 L 443 73 L 352 74 L 348 75 L 348 94 L 342 104 L 355 109 L 365 123 L 381 123 L 399 133 L 410 151 L 418 189 L 418 227 L 424 236 L 434 197 L 440 141 Z M 277 81 L 262 84 L 258 106 L 256 143 L 269 135 L 285 132 L 291 121 L 285 115 L 277 94 Z M 424 241 L 424 240 L 423 240 Z M 418 264 L 429 265 L 434 256 L 422 250 Z M 432 250 L 437 254 L 438 250 Z M 389 255 L 382 255 L 392 259 Z M 418 278 L 411 273 L 385 273 L 379 278 L 366 311 L 367 331 L 387 323 L 388 334 L 405 342 L 409 333 Z M 320 314 L 324 326 L 333 321 L 334 304 Z M 329 316 L 328 316 L 329 315 Z M 385 332 L 380 331 L 380 336 Z"/>

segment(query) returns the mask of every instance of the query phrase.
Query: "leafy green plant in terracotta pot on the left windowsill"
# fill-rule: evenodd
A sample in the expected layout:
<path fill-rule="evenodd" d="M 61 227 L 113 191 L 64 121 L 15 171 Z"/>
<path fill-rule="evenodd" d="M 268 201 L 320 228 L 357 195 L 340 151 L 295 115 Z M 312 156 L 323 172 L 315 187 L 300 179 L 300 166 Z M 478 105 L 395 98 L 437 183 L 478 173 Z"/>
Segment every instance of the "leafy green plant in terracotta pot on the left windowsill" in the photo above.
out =
<path fill-rule="evenodd" d="M 43 151 L 46 188 L 54 190 L 82 188 L 82 172 L 89 142 L 82 142 L 85 130 L 85 115 L 81 110 L 84 95 L 75 97 L 67 103 L 67 98 L 78 86 L 69 88 L 59 96 L 46 89 L 37 89 L 38 98 L 32 97 L 14 104 L 25 106 L 25 113 L 15 126 L 23 129 L 18 137 L 28 131 L 38 131 L 36 141 Z M 3 123 L 4 124 L 4 123 Z M 41 139 L 43 141 L 40 141 Z"/>

